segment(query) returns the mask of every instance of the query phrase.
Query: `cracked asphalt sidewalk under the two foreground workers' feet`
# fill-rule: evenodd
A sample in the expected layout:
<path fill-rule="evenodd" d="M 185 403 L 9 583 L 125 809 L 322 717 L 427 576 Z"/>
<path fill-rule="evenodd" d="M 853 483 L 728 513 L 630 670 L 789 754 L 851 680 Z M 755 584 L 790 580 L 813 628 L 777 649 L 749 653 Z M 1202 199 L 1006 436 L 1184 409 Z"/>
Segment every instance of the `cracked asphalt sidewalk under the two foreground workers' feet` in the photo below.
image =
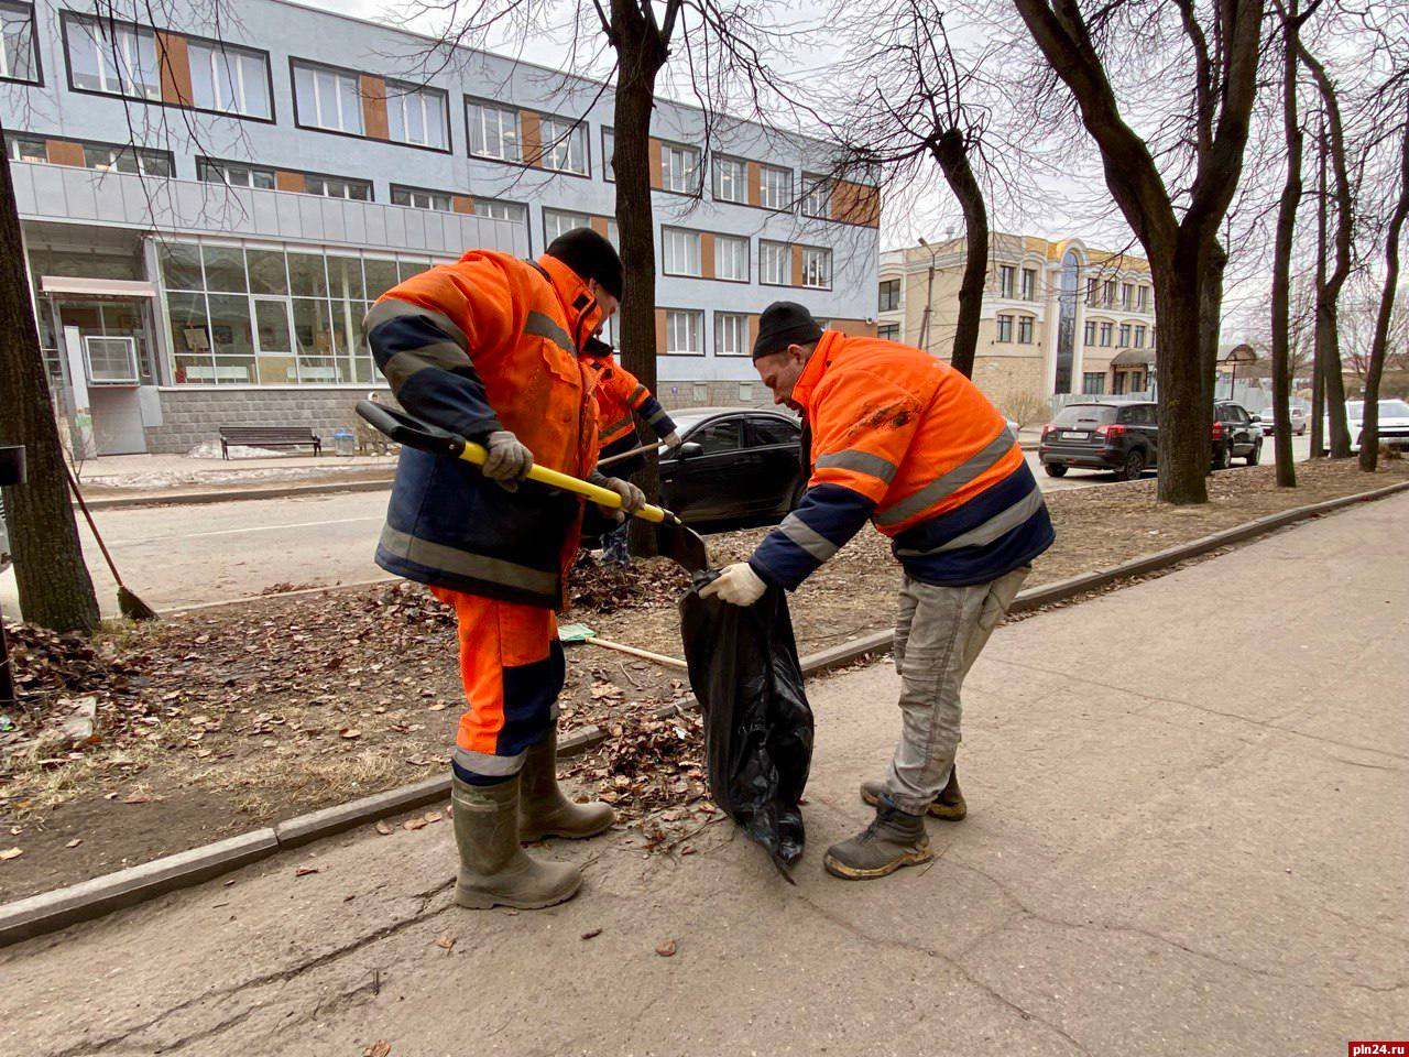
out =
<path fill-rule="evenodd" d="M 927 868 L 821 872 L 898 726 L 882 662 L 810 691 L 796 888 L 726 823 L 675 858 L 627 834 L 554 843 L 586 864 L 576 901 L 471 913 L 449 903 L 445 823 L 364 830 L 0 951 L 0 1053 L 1319 1057 L 1402 1039 L 1406 520 L 1392 497 L 999 630 L 965 695 L 971 815 L 930 823 Z"/>

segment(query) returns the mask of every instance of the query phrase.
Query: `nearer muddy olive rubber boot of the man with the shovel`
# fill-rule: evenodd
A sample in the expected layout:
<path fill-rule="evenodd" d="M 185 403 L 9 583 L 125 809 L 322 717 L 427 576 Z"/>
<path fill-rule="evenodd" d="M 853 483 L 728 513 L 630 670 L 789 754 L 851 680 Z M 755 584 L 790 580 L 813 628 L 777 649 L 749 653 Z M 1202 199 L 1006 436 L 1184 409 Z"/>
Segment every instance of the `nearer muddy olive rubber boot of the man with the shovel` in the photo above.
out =
<path fill-rule="evenodd" d="M 455 778 L 455 902 L 472 910 L 516 906 L 534 910 L 571 899 L 582 871 L 571 863 L 540 863 L 519 847 L 519 781 L 469 785 Z"/>

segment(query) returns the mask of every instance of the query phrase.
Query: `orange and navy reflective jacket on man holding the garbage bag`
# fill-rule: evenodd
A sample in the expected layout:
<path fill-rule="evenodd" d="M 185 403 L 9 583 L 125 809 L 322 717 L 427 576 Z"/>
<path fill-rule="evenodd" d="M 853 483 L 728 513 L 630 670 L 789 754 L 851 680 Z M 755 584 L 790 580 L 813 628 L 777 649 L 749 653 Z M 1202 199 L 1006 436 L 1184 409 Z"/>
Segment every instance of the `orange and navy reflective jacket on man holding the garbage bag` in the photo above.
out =
<path fill-rule="evenodd" d="M 983 583 L 1053 544 L 1037 481 L 988 397 L 920 350 L 826 331 L 793 388 L 812 428 L 797 509 L 754 551 L 796 588 L 872 520 L 926 583 Z"/>

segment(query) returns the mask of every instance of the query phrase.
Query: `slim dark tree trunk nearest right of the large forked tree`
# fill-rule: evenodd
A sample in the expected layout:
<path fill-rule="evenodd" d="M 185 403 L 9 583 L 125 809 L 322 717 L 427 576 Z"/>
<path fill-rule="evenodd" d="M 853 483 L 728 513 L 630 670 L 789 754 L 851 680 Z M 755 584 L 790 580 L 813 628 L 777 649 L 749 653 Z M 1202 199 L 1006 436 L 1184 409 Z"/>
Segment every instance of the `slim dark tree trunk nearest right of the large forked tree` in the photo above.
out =
<path fill-rule="evenodd" d="M 1277 242 L 1272 251 L 1272 450 L 1277 457 L 1278 488 L 1296 488 L 1292 462 L 1292 242 L 1296 235 L 1296 207 L 1302 200 L 1302 127 L 1296 114 L 1296 35 L 1301 23 L 1296 0 L 1282 18 L 1286 35 L 1282 65 L 1282 127 L 1286 135 L 1286 182 L 1277 207 Z"/>

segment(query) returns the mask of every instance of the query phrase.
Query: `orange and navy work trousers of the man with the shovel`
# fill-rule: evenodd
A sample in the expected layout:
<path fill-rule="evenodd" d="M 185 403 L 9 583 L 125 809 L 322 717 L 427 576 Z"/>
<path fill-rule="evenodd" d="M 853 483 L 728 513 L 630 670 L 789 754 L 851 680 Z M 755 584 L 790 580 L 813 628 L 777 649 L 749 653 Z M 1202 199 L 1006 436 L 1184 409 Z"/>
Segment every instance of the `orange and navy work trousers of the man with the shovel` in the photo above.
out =
<path fill-rule="evenodd" d="M 455 734 L 462 782 L 492 785 L 519 774 L 524 751 L 558 720 L 564 660 L 551 609 L 431 588 L 459 623 L 459 675 L 469 707 Z"/>

